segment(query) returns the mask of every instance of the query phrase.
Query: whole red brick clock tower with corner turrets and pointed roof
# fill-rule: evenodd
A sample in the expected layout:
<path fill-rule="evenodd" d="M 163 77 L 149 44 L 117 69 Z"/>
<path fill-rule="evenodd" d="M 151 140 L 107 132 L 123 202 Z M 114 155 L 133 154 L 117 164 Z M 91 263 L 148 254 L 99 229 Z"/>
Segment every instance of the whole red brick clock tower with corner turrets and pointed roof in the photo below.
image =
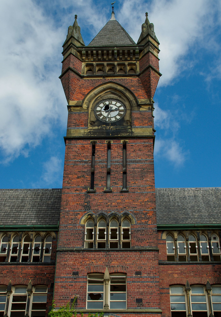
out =
<path fill-rule="evenodd" d="M 111 19 L 84 45 L 68 29 L 60 76 L 68 125 L 54 299 L 78 311 L 160 316 L 153 96 L 159 42 Z"/>

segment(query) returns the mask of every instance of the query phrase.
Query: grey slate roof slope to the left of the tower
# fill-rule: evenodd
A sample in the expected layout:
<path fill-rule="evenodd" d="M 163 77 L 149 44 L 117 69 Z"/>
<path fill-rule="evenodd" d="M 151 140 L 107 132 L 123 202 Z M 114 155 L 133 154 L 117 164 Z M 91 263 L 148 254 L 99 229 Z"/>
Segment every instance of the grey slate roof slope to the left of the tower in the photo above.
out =
<path fill-rule="evenodd" d="M 0 225 L 57 225 L 61 189 L 0 189 Z"/>

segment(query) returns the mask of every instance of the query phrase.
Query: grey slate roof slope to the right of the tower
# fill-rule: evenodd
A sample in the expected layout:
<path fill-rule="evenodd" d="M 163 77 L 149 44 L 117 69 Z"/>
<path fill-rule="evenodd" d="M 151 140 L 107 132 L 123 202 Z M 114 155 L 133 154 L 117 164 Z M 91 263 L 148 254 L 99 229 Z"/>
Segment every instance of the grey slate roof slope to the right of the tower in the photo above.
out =
<path fill-rule="evenodd" d="M 156 188 L 157 224 L 221 223 L 221 188 Z"/>

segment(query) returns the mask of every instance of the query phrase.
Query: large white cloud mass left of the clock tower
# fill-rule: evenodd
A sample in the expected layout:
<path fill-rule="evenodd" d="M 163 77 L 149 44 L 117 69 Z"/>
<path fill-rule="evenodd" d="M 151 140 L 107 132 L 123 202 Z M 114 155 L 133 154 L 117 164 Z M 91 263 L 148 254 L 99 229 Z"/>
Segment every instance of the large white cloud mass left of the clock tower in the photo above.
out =
<path fill-rule="evenodd" d="M 66 109 L 58 76 L 62 33 L 31 1 L 5 1 L 0 28 L 0 148 L 6 160 L 38 145 Z M 63 107 L 62 107 L 63 105 Z"/>

